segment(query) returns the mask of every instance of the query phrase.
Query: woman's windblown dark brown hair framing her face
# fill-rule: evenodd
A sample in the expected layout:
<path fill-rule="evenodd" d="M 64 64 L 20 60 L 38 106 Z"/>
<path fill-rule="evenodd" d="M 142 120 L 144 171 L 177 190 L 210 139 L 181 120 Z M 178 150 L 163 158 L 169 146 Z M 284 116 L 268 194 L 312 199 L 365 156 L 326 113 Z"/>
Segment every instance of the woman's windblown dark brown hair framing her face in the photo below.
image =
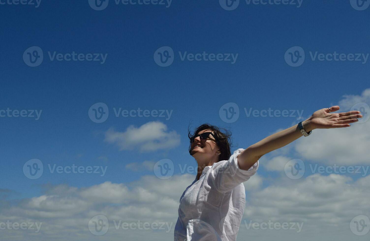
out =
<path fill-rule="evenodd" d="M 218 156 L 218 162 L 222 160 L 229 160 L 231 156 L 231 132 L 229 130 L 226 130 L 225 128 L 219 128 L 217 126 L 210 125 L 209 123 L 204 123 L 198 126 L 193 134 L 190 134 L 190 130 L 188 128 L 189 140 L 202 130 L 212 130 L 213 135 L 216 136 L 216 144 L 221 151 L 221 154 Z M 189 154 L 194 154 L 194 152 L 192 152 L 191 150 L 191 143 L 189 145 Z"/>

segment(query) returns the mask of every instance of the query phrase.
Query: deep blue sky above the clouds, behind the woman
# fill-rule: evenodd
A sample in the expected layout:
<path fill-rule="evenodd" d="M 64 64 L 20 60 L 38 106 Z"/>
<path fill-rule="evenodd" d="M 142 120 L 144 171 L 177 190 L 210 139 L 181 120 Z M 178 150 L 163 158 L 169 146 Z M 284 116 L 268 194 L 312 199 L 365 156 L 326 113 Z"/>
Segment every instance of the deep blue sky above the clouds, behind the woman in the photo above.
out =
<path fill-rule="evenodd" d="M 235 150 L 295 125 L 318 109 L 343 103 L 343 108 L 347 108 L 343 111 L 348 111 L 356 103 L 369 104 L 368 92 L 364 91 L 369 88 L 370 61 L 311 58 L 316 51 L 325 55 L 335 51 L 346 58 L 350 54 L 362 54 L 362 58 L 370 53 L 366 31 L 370 8 L 356 10 L 350 1 L 303 0 L 300 7 L 240 1 L 232 11 L 224 10 L 217 1 L 174 0 L 166 6 L 124 5 L 110 0 L 101 11 L 92 9 L 87 0 L 41 1 L 37 8 L 1 2 L 5 4 L 0 5 L 0 110 L 42 110 L 38 120 L 0 118 L 0 189 L 6 190 L 2 195 L 4 203 L 42 196 L 50 187 L 61 184 L 78 189 L 107 181 L 129 185 L 146 175 L 154 176 L 150 168 L 128 168 L 130 163 L 140 167 L 147 161 L 150 166 L 165 158 L 172 160 L 175 167 L 194 166 L 195 160 L 188 154 L 189 121 L 193 127 L 209 122 L 229 128 Z M 24 52 L 33 46 L 43 50 L 43 62 L 37 67 L 30 67 L 23 60 Z M 155 52 L 163 46 L 174 51 L 174 62 L 168 67 L 154 61 Z M 294 46 L 305 52 L 305 61 L 298 67 L 285 61 L 286 51 Z M 103 64 L 52 61 L 48 52 L 52 55 L 54 51 L 63 55 L 102 54 L 106 59 Z M 185 52 L 238 55 L 235 63 L 182 61 L 180 55 Z M 95 123 L 88 111 L 100 102 L 107 105 L 109 116 L 106 121 Z M 229 102 L 240 109 L 238 120 L 232 123 L 224 122 L 219 115 L 221 106 Z M 169 119 L 116 117 L 113 108 L 167 110 L 172 114 Z M 243 108 L 293 109 L 303 111 L 303 116 L 300 120 L 276 116 L 248 118 Z M 135 132 L 143 125 L 149 125 L 155 135 L 158 132 L 151 125 L 158 122 L 166 128 L 158 130 L 166 142 L 148 138 L 165 147 L 141 151 L 148 140 L 135 142 L 134 134 L 122 135 L 128 133 L 129 126 Z M 108 130 L 121 137 L 108 141 Z M 314 130 L 313 135 L 320 131 Z M 122 142 L 127 148 L 120 148 L 126 145 Z M 348 148 L 351 145 L 354 144 L 349 143 Z M 295 152 L 293 145 L 290 147 L 290 159 L 305 157 L 309 162 L 326 163 L 324 158 L 315 159 Z M 272 153 L 271 158 L 278 154 Z M 40 159 L 44 165 L 43 175 L 36 180 L 28 179 L 22 171 L 30 159 Z M 361 159 L 357 164 L 366 163 L 369 164 Z M 50 173 L 47 164 L 106 166 L 107 171 L 104 176 L 58 174 Z M 261 162 L 258 174 L 265 179 L 261 187 L 268 188 L 279 178 L 271 170 L 273 167 L 267 170 Z M 184 173 L 175 168 L 175 175 L 181 174 Z M 182 184 L 179 190 L 185 187 Z"/>

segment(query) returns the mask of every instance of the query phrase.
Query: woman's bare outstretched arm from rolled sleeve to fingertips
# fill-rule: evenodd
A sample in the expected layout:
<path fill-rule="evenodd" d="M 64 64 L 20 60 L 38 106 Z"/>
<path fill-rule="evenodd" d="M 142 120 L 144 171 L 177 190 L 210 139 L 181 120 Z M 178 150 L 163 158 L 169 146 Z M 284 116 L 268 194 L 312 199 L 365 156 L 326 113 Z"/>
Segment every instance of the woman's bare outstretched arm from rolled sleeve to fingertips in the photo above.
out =
<path fill-rule="evenodd" d="M 330 107 L 330 112 L 338 111 L 339 106 Z M 313 129 L 329 129 L 349 127 L 350 123 L 359 121 L 361 118 L 360 111 L 349 111 L 342 113 L 330 113 L 329 108 L 315 111 L 310 118 L 302 122 L 303 128 L 308 133 Z M 248 170 L 260 159 L 261 156 L 273 150 L 279 149 L 290 142 L 300 138 L 298 125 L 294 125 L 288 129 L 277 132 L 266 137 L 263 140 L 249 146 L 243 150 L 238 156 L 238 164 L 240 169 Z"/>

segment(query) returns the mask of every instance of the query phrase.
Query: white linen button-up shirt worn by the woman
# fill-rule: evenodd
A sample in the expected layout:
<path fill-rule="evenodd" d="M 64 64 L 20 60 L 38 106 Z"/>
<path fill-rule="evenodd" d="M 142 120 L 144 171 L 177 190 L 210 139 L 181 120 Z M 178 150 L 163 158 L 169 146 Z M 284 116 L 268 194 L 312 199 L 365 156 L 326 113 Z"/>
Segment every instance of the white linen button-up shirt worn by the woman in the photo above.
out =
<path fill-rule="evenodd" d="M 244 181 L 253 176 L 259 162 L 249 170 L 239 168 L 236 150 L 229 160 L 203 169 L 180 198 L 174 241 L 235 241 L 245 208 Z"/>

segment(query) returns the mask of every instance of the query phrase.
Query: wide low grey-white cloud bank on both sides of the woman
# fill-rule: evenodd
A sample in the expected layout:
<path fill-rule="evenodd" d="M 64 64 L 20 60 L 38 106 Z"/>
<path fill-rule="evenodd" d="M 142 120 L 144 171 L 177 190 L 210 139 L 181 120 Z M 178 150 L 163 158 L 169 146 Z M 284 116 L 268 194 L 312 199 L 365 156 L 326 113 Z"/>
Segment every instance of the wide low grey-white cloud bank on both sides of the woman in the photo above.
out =
<path fill-rule="evenodd" d="M 168 240 L 173 238 L 179 198 L 194 180 L 194 175 L 175 175 L 168 180 L 143 176 L 131 183 L 109 181 L 88 188 L 60 185 L 38 197 L 0 208 L 0 220 L 43 222 L 37 235 L 4 230 L 4 240 L 97 240 L 87 229 L 95 215 L 110 220 L 106 240 Z M 353 240 L 349 222 L 356 215 L 370 217 L 370 176 L 353 181 L 338 174 L 314 174 L 305 179 L 277 178 L 261 189 L 257 173 L 245 184 L 248 190 L 244 220 L 247 222 L 303 222 L 302 232 L 294 230 L 247 230 L 244 221 L 238 240 L 245 235 L 256 240 Z M 56 194 L 58 193 L 58 195 Z M 102 201 L 101 201 L 102 200 Z M 166 222 L 171 231 L 116 230 L 117 222 Z M 13 230 L 14 231 L 14 230 Z M 297 235 L 297 236 L 296 236 Z"/>

